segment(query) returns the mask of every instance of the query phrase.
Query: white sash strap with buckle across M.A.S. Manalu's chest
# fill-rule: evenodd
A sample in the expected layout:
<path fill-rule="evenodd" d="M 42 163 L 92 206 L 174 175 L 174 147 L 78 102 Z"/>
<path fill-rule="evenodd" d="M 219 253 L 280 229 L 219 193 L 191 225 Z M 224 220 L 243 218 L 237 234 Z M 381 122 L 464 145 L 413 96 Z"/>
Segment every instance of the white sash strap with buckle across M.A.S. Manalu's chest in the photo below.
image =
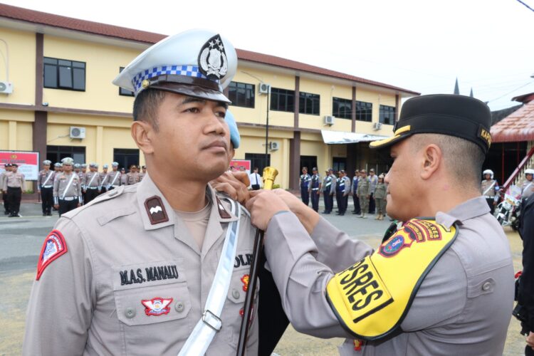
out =
<path fill-rule="evenodd" d="M 221 312 L 230 288 L 231 276 L 234 271 L 236 259 L 237 241 L 239 236 L 239 220 L 241 217 L 241 207 L 239 203 L 228 199 L 231 204 L 232 214 L 237 216 L 236 221 L 232 221 L 226 230 L 226 238 L 222 248 L 219 265 L 215 272 L 214 281 L 209 289 L 206 305 L 202 318 L 195 325 L 191 335 L 178 353 L 178 356 L 201 356 L 206 353 L 211 340 L 217 331 L 222 328 Z"/>

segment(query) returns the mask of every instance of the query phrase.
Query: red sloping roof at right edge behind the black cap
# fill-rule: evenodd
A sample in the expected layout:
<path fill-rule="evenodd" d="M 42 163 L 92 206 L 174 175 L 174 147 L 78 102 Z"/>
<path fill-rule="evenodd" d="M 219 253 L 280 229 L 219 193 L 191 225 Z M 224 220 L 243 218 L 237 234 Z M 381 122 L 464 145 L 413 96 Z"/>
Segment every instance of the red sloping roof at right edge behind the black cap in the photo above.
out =
<path fill-rule="evenodd" d="M 534 100 L 491 127 L 493 142 L 534 141 Z"/>

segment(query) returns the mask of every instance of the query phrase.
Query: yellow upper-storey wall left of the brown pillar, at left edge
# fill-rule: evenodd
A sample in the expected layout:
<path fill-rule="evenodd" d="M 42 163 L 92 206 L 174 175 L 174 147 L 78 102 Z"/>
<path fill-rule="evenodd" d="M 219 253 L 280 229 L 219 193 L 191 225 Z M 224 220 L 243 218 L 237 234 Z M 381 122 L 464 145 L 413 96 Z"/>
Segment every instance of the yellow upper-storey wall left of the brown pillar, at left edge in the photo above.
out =
<path fill-rule="evenodd" d="M 13 84 L 13 93 L 0 93 L 0 103 L 33 105 L 36 81 L 36 34 L 0 28 L 0 40 L 0 80 L 8 80 L 6 63 L 9 62 L 9 82 Z"/>

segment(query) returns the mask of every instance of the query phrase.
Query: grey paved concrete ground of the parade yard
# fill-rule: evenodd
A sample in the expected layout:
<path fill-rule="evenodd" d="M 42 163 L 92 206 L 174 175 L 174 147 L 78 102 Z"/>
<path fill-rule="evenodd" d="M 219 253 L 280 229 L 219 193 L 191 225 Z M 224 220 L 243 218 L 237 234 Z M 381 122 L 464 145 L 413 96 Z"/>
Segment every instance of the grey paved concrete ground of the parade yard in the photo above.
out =
<path fill-rule="evenodd" d="M 3 209 L 0 209 L 2 211 Z M 349 206 L 348 211 L 352 210 Z M 20 355 L 26 305 L 35 279 L 38 253 L 43 239 L 58 219 L 41 216 L 41 206 L 23 203 L 21 218 L 0 216 L 0 356 Z M 359 219 L 357 216 L 325 215 L 326 219 L 352 237 L 378 246 L 390 221 Z M 507 231 L 513 251 L 515 270 L 521 268 L 521 242 L 517 234 Z M 288 328 L 275 352 L 278 355 L 337 355 L 341 339 L 322 340 Z M 523 355 L 524 338 L 519 325 L 511 318 L 504 355 Z"/>

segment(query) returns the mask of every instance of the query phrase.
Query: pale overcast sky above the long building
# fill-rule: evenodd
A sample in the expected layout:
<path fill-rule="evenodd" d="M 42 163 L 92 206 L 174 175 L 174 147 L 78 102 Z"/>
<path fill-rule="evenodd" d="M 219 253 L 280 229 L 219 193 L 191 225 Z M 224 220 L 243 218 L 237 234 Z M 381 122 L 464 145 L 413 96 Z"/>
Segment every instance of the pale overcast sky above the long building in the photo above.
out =
<path fill-rule="evenodd" d="M 163 34 L 210 28 L 236 48 L 422 94 L 458 78 L 492 110 L 534 92 L 534 11 L 518 0 L 0 1 Z"/>

